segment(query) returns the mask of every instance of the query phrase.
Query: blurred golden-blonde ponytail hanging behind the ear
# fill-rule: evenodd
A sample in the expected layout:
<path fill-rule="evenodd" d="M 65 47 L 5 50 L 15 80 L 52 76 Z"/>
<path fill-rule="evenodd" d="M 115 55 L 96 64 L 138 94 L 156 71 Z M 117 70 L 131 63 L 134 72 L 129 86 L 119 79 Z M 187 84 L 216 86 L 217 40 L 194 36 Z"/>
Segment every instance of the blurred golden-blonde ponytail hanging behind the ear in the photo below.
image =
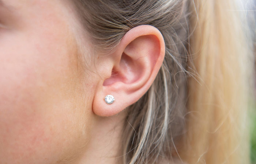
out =
<path fill-rule="evenodd" d="M 232 0 L 193 5 L 188 71 L 197 75 L 188 78 L 187 147 L 180 154 L 187 163 L 249 164 L 254 34 L 246 10 Z"/>

